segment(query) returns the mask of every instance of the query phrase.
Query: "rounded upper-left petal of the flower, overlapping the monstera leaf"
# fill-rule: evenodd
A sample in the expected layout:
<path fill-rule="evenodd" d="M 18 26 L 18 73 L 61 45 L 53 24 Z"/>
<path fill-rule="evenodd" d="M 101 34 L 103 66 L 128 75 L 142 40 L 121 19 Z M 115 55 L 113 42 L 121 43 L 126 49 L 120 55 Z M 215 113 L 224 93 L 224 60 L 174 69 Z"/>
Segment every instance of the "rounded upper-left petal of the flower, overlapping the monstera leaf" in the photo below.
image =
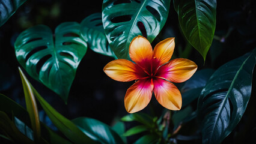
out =
<path fill-rule="evenodd" d="M 129 47 L 129 55 L 132 61 L 140 66 L 144 66 L 145 61 L 151 60 L 153 50 L 147 38 L 140 35 L 133 38 Z"/>

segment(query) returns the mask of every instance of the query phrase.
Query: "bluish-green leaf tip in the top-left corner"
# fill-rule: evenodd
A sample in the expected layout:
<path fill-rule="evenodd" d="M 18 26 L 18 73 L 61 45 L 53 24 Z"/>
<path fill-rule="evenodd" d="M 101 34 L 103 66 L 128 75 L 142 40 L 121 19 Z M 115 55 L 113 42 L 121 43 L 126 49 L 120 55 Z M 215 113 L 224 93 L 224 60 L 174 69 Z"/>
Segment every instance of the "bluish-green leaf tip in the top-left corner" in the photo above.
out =
<path fill-rule="evenodd" d="M 4 25 L 7 20 L 13 16 L 16 10 L 26 0 L 5 0 L 0 1 L 0 26 Z"/>

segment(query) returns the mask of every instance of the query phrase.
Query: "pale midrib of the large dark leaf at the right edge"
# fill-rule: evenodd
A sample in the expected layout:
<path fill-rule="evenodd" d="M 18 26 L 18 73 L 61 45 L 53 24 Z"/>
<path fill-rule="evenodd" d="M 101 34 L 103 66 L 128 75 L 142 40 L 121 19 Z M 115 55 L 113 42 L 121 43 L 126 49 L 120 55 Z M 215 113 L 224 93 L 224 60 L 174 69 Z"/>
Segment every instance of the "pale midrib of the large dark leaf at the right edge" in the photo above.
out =
<path fill-rule="evenodd" d="M 251 55 L 252 55 L 252 53 L 251 53 Z M 242 70 L 243 65 L 245 65 L 246 61 L 251 57 L 251 55 L 249 55 L 248 58 L 246 58 L 245 61 L 243 61 L 243 64 L 241 65 L 241 67 L 240 67 L 239 70 L 237 71 L 236 75 L 234 76 L 234 79 L 233 79 L 232 82 L 231 82 L 230 88 L 228 88 L 228 92 L 227 92 L 227 94 L 226 94 L 224 100 L 223 100 L 222 103 L 221 103 L 221 110 L 219 110 L 219 113 L 218 113 L 218 116 L 217 116 L 217 118 L 216 118 L 215 124 L 213 125 L 213 131 L 214 131 L 215 128 L 216 128 L 216 124 L 217 124 L 218 119 L 220 118 L 220 115 L 221 115 L 220 112 L 222 112 L 222 110 L 223 110 L 224 107 L 225 107 L 225 103 L 226 103 L 227 98 L 229 97 L 229 94 L 230 94 L 230 92 L 231 92 L 231 88 L 233 87 L 234 82 L 236 81 L 237 76 L 239 75 L 240 71 Z M 210 136 L 210 139 L 212 139 L 213 132 L 212 132 L 210 135 L 211 135 L 211 136 Z"/>

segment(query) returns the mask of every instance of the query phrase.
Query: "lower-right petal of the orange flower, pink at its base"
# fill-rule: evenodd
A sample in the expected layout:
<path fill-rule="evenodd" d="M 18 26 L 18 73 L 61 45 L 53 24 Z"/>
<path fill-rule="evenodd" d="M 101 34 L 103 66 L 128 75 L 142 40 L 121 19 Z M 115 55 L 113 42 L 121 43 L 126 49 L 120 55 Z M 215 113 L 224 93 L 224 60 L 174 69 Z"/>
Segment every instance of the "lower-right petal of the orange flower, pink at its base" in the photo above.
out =
<path fill-rule="evenodd" d="M 167 80 L 156 78 L 154 83 L 154 95 L 156 100 L 166 109 L 180 110 L 182 98 L 178 88 Z"/>

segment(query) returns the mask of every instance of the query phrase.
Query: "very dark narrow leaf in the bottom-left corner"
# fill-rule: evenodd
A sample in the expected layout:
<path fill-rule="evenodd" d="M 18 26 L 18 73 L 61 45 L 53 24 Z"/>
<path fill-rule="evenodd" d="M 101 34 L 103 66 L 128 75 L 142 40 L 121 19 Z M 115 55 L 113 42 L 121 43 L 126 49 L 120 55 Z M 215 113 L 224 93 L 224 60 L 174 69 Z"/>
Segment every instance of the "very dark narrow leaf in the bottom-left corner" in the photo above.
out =
<path fill-rule="evenodd" d="M 34 143 L 19 131 L 13 121 L 5 112 L 0 111 L 0 130 L 7 134 L 8 138 L 16 143 Z"/>

